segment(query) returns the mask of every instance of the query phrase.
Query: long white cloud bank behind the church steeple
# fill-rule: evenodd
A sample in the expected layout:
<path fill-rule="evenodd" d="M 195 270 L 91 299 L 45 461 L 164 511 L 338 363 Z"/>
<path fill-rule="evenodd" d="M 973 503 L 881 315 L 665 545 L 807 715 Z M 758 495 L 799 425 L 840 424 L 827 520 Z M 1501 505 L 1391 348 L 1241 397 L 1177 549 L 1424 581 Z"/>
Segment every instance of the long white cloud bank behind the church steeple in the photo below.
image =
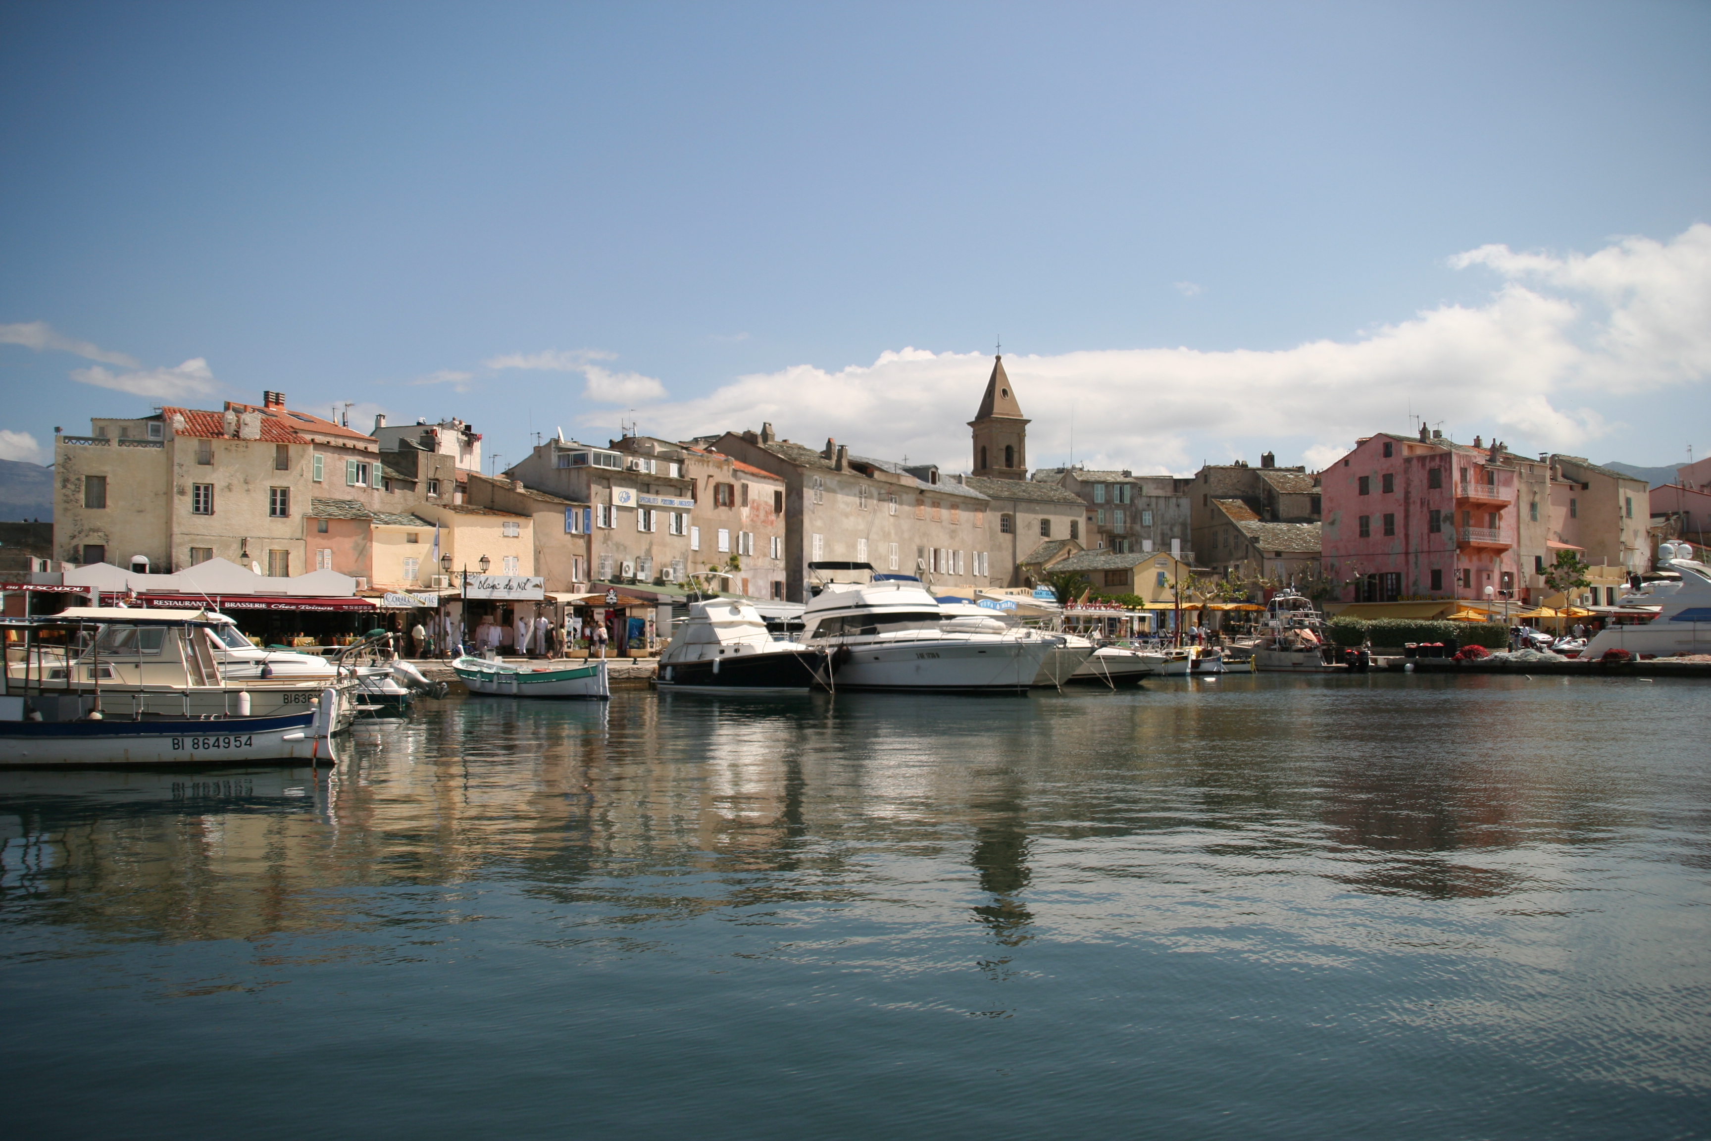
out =
<path fill-rule="evenodd" d="M 1612 392 L 1711 375 L 1711 226 L 1668 243 L 1624 239 L 1591 257 L 1485 246 L 1453 265 L 1483 265 L 1504 281 L 1485 304 L 1444 304 L 1348 340 L 1006 356 L 1033 419 L 1030 462 L 1052 465 L 1069 453 L 1071 407 L 1076 460 L 1138 472 L 1193 470 L 1242 440 L 1294 440 L 1323 467 L 1359 436 L 1408 431 L 1410 407 L 1449 433 L 1465 429 L 1461 438 L 1482 431 L 1518 448 L 1584 450 L 1613 428 L 1598 407 Z M 833 435 L 856 453 L 960 469 L 968 465 L 963 424 L 989 369 L 980 352 L 910 347 L 842 371 L 796 364 L 739 376 L 647 416 L 667 436 L 772 421 L 816 448 Z M 647 399 L 648 385 L 625 399 Z"/>

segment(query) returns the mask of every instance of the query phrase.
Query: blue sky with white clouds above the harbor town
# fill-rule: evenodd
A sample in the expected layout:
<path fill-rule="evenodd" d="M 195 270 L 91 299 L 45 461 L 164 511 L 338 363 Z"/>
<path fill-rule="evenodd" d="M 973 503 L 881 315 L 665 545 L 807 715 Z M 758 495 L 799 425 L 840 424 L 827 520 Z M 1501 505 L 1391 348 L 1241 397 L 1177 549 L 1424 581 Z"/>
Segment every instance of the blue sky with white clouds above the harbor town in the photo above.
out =
<path fill-rule="evenodd" d="M 281 390 L 500 469 L 772 421 L 1711 448 L 1708 3 L 0 5 L 0 458 Z M 493 460 L 489 458 L 489 464 Z"/>

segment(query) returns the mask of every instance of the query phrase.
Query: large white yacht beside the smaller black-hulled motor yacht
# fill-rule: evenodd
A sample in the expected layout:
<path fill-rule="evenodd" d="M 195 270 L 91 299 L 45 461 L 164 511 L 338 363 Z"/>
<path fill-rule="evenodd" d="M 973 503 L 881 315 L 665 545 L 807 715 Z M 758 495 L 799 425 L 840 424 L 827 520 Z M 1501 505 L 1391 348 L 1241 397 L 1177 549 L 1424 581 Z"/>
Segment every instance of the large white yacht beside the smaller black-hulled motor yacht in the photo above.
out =
<path fill-rule="evenodd" d="M 820 594 L 802 612 L 802 641 L 832 653 L 838 689 L 1027 693 L 1061 638 L 950 619 L 910 575 L 867 563 L 809 563 Z M 838 580 L 847 575 L 845 580 Z"/>

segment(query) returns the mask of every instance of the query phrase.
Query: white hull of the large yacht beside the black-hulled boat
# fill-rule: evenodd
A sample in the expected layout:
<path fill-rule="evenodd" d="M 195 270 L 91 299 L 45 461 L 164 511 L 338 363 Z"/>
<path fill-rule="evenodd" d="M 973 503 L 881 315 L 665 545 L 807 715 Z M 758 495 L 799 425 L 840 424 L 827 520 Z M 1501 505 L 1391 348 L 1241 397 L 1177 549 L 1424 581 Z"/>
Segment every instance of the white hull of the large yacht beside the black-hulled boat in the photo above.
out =
<path fill-rule="evenodd" d="M 840 647 L 838 689 L 1027 693 L 1051 641 L 902 641 Z M 847 652 L 847 653 L 845 653 Z"/>

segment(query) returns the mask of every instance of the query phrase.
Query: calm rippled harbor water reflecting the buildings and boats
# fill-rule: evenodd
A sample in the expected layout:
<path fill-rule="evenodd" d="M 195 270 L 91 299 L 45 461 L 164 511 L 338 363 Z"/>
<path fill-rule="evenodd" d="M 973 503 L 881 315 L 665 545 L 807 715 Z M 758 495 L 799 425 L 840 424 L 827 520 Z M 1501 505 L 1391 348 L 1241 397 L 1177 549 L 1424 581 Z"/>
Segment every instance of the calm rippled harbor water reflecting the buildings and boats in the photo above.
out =
<path fill-rule="evenodd" d="M 1702 1138 L 1697 683 L 450 698 L 0 773 L 19 1138 Z"/>

